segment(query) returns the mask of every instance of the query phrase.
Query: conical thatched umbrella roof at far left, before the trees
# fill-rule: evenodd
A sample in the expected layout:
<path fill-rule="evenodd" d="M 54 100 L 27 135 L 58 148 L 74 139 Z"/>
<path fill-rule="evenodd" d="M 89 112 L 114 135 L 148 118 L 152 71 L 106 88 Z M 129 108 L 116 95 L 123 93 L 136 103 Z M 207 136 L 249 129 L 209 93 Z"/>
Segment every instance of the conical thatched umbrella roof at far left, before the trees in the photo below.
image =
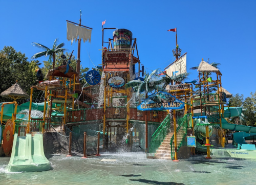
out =
<path fill-rule="evenodd" d="M 25 92 L 17 82 L 3 91 L 1 96 L 4 98 L 12 98 L 13 100 L 17 100 L 19 98 L 30 98 L 27 92 Z"/>

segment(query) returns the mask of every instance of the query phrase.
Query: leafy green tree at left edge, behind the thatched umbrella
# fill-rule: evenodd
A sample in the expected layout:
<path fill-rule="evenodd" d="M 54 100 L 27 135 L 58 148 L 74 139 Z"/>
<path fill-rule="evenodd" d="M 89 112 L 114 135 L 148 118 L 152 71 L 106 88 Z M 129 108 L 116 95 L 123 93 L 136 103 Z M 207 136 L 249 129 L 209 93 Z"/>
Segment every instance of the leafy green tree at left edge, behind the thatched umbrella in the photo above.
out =
<path fill-rule="evenodd" d="M 0 51 L 0 93 L 8 89 L 14 83 L 22 87 L 30 95 L 30 87 L 36 85 L 36 68 L 40 65 L 38 60 L 28 61 L 25 54 L 16 52 L 12 47 L 4 47 Z M 36 99 L 39 91 L 34 90 L 33 100 Z M 12 99 L 0 97 L 0 102 L 10 102 Z M 18 104 L 27 102 L 26 99 L 18 99 Z"/>

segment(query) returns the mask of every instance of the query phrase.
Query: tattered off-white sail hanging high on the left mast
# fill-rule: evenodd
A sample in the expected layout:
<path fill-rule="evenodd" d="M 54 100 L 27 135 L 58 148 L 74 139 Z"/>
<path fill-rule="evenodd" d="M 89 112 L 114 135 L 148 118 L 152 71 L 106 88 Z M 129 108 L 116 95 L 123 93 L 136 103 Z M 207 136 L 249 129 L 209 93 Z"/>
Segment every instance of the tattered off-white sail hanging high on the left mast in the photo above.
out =
<path fill-rule="evenodd" d="M 67 39 L 71 40 L 71 44 L 74 39 L 77 41 L 78 37 L 79 39 L 82 39 L 83 42 L 91 42 L 91 35 L 92 30 L 67 22 Z"/>

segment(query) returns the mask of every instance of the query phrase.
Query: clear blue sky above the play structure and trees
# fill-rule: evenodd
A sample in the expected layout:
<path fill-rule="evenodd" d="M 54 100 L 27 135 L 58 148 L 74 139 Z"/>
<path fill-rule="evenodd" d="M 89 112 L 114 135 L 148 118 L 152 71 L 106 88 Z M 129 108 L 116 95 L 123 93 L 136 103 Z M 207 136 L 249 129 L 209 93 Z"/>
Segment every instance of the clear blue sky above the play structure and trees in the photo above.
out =
<path fill-rule="evenodd" d="M 0 1 L 0 50 L 12 46 L 30 57 L 41 50 L 38 42 L 51 48 L 55 38 L 77 56 L 77 44 L 67 40 L 66 20 L 93 28 L 92 43 L 81 44 L 81 64 L 101 63 L 101 22 L 105 28 L 133 32 L 141 63 L 151 72 L 164 70 L 178 44 L 187 52 L 187 69 L 201 59 L 221 63 L 222 85 L 231 94 L 250 96 L 256 90 L 256 1 Z M 112 37 L 104 33 L 104 41 Z M 107 45 L 106 45 L 107 47 Z M 88 54 L 87 54 L 88 52 Z M 47 60 L 45 57 L 40 61 Z M 197 78 L 196 71 L 189 76 Z"/>

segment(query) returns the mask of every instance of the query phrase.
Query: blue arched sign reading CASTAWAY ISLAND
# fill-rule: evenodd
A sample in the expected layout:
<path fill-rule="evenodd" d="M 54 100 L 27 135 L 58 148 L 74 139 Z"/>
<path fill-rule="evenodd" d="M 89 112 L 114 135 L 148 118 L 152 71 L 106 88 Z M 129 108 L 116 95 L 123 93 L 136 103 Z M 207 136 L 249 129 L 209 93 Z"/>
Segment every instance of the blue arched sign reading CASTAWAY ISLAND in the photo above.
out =
<path fill-rule="evenodd" d="M 182 109 L 184 103 L 168 94 L 167 92 L 159 91 L 150 95 L 137 108 L 139 110 L 168 110 Z"/>

